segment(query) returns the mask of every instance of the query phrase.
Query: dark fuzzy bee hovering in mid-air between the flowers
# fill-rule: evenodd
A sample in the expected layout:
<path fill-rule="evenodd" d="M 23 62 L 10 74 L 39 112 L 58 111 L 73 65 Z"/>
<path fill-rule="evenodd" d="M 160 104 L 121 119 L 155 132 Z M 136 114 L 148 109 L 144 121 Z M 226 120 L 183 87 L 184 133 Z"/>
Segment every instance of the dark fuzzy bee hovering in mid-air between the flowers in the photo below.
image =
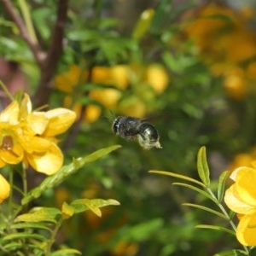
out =
<path fill-rule="evenodd" d="M 113 120 L 112 130 L 113 133 L 126 140 L 137 139 L 145 149 L 161 148 L 158 131 L 145 119 L 119 116 Z"/>

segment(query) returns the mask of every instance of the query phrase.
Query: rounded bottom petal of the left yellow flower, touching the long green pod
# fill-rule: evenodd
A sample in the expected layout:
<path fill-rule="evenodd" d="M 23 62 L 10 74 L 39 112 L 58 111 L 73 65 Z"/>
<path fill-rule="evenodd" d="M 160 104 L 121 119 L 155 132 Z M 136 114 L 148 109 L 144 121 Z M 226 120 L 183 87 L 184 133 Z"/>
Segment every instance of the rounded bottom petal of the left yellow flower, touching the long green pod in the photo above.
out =
<path fill-rule="evenodd" d="M 63 163 L 61 149 L 55 143 L 52 143 L 49 150 L 45 153 L 33 152 L 32 154 L 26 154 L 26 159 L 36 171 L 47 175 L 58 172 Z"/>

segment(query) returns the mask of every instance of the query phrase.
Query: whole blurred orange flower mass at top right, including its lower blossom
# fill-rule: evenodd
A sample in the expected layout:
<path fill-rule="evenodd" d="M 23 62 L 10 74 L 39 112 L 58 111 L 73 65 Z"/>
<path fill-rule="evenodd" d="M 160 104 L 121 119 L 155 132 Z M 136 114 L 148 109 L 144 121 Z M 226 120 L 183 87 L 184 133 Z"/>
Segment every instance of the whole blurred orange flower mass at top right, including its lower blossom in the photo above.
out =
<path fill-rule="evenodd" d="M 226 93 L 236 100 L 256 95 L 256 33 L 249 26 L 253 15 L 247 10 L 238 12 L 211 2 L 189 13 L 190 21 L 183 27 L 212 74 L 224 77 Z"/>

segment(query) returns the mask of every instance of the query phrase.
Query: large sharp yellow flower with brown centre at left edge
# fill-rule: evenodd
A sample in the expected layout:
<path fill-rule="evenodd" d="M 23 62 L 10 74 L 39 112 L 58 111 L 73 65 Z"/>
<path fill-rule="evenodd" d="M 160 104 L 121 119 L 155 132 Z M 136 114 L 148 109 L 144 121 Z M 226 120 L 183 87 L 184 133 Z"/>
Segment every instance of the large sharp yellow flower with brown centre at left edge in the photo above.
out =
<path fill-rule="evenodd" d="M 32 112 L 25 94 L 20 104 L 12 102 L 0 114 L 0 167 L 24 161 L 45 174 L 57 172 L 63 163 L 55 136 L 73 124 L 76 114 L 66 108 Z"/>

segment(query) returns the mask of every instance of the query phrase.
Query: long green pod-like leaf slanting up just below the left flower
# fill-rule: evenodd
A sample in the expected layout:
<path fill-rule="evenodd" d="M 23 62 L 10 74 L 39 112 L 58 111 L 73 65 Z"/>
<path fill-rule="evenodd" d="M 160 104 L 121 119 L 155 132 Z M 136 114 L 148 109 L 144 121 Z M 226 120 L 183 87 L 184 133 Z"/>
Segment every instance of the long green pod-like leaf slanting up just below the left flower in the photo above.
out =
<path fill-rule="evenodd" d="M 53 188 L 55 185 L 61 183 L 69 175 L 77 172 L 81 167 L 93 162 L 102 156 L 109 154 L 113 150 L 120 148 L 121 146 L 115 145 L 108 148 L 102 148 L 95 151 L 92 154 L 86 155 L 83 158 L 74 159 L 73 163 L 62 166 L 61 169 L 55 174 L 46 177 L 44 181 L 35 189 L 32 189 L 21 201 L 22 205 L 26 205 L 35 198 L 38 198 L 46 189 Z"/>

